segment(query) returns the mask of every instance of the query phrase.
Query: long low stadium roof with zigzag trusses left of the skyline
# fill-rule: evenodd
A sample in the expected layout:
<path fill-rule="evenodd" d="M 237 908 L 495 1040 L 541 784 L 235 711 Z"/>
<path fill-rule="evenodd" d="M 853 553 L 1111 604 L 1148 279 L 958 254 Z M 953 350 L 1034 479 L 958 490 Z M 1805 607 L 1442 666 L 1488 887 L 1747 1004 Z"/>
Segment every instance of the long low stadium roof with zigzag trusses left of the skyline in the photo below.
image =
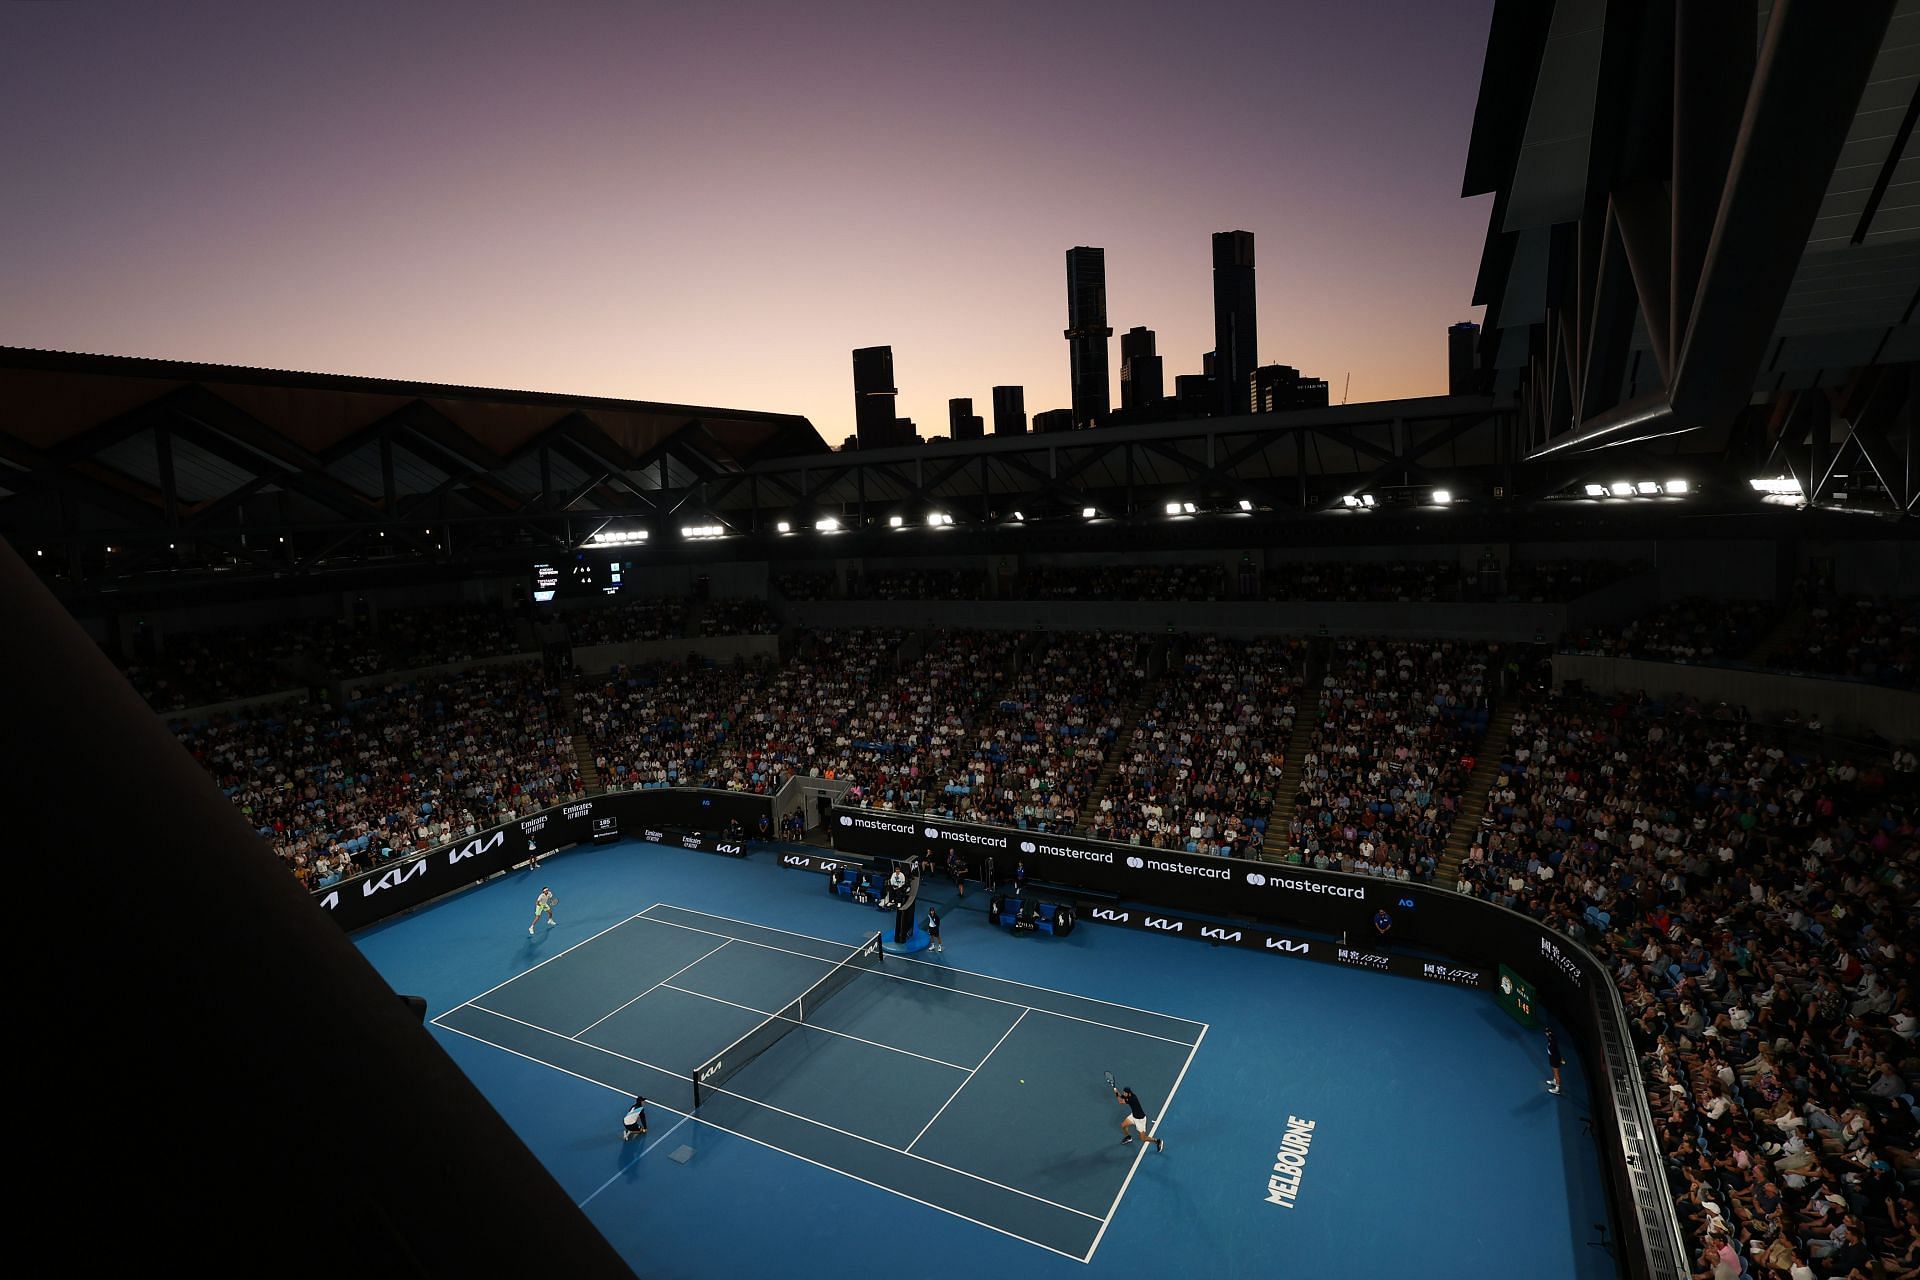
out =
<path fill-rule="evenodd" d="M 593 509 L 826 451 L 799 415 L 0 347 L 0 497 L 190 518 L 238 493 L 367 514 L 428 493 L 511 510 L 584 486 L 576 507 Z"/>

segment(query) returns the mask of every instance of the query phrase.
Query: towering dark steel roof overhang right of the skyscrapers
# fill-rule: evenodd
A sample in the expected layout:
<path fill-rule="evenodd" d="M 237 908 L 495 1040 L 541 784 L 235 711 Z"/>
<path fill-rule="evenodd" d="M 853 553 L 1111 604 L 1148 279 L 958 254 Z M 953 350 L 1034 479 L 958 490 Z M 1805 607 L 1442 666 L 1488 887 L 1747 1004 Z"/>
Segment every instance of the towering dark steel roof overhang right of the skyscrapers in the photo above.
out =
<path fill-rule="evenodd" d="M 1916 90 L 1920 0 L 1498 0 L 1463 194 L 1494 196 L 1480 357 L 1530 453 L 1749 418 L 1809 497 L 1849 449 L 1905 472 Z"/>

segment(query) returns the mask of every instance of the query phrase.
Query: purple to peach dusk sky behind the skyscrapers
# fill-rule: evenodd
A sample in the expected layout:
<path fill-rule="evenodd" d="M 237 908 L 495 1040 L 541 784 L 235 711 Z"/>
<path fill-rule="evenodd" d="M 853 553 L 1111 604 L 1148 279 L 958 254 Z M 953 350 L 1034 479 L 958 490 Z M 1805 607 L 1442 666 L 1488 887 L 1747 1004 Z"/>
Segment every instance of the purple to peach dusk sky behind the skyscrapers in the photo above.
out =
<path fill-rule="evenodd" d="M 804 413 L 1068 403 L 1069 246 L 1167 388 L 1446 390 L 1492 0 L 4 4 L 0 344 Z"/>

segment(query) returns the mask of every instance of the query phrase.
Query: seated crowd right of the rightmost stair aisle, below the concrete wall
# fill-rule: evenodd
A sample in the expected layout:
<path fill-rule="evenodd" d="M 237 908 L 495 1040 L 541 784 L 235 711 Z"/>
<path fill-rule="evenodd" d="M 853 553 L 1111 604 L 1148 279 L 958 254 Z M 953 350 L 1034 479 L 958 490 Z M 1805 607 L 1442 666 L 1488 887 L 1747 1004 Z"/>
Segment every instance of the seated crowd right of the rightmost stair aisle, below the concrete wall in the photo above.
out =
<path fill-rule="evenodd" d="M 1726 708 L 1515 714 L 1457 889 L 1613 965 L 1703 1280 L 1920 1267 L 1912 783 Z"/>

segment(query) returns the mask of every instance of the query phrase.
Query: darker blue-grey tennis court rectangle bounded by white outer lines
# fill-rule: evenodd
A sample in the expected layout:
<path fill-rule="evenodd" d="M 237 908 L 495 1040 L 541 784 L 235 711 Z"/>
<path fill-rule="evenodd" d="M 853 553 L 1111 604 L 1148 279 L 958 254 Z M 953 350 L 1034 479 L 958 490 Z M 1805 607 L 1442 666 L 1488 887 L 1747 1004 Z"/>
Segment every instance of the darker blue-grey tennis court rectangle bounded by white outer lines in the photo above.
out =
<path fill-rule="evenodd" d="M 876 940 L 655 904 L 434 1025 L 645 1094 L 670 1113 L 657 1146 L 724 1130 L 1091 1261 L 1156 1159 L 1119 1146 L 1102 1077 L 1158 1121 L 1206 1025 L 877 956 Z M 674 1119 L 695 1115 L 697 1077 L 697 1117 Z"/>

